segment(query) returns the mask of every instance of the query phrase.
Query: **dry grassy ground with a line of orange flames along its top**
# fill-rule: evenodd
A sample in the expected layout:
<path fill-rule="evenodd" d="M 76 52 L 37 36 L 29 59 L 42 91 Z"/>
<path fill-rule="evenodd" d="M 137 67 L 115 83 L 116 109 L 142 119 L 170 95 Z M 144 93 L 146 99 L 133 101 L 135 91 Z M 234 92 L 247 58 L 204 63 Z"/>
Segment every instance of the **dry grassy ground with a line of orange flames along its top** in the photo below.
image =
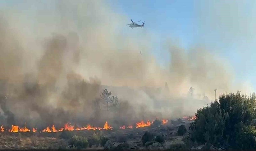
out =
<path fill-rule="evenodd" d="M 160 122 L 160 127 L 153 126 L 154 122 L 156 121 Z M 173 129 L 173 132 L 170 133 L 170 130 L 168 130 L 167 128 L 169 126 L 174 127 L 174 125 L 166 123 L 168 123 L 168 120 L 166 119 L 153 121 L 147 120 L 147 122 L 137 122 L 137 124 L 140 124 L 141 126 L 146 125 L 144 127 L 136 128 L 136 126 L 133 125 L 123 125 L 122 127 L 117 127 L 118 129 L 113 129 L 108 122 L 105 122 L 101 129 L 99 129 L 98 127 L 93 127 L 89 124 L 86 127 L 77 128 L 75 125 L 67 123 L 64 124 L 63 127 L 60 129 L 58 129 L 54 125 L 52 125 L 51 127 L 49 126 L 48 128 L 44 129 L 46 131 L 42 133 L 40 133 L 40 130 L 38 131 L 35 128 L 33 130 L 31 129 L 30 131 L 27 131 L 26 129 L 29 128 L 27 128 L 26 126 L 20 128 L 18 125 L 12 125 L 12 129 L 10 130 L 18 130 L 18 133 L 9 133 L 8 130 L 6 131 L 4 129 L 5 131 L 0 133 L 0 149 L 69 149 L 71 147 L 74 147 L 73 149 L 85 149 L 86 147 L 90 149 L 103 149 L 105 144 L 113 144 L 113 147 L 115 148 L 118 147 L 120 143 L 123 145 L 126 144 L 126 149 L 143 149 L 147 147 L 151 148 L 152 145 L 150 144 L 148 144 L 147 147 L 142 145 L 141 137 L 143 136 L 145 131 L 154 134 L 153 141 L 159 142 L 160 144 L 158 143 L 158 145 L 163 147 L 166 146 L 166 141 L 172 141 L 167 140 L 166 138 L 174 136 L 178 137 L 176 135 L 172 135 L 172 133 L 176 134 L 176 131 L 178 129 Z M 190 121 L 186 122 L 186 127 L 188 127 L 189 123 Z M 134 123 L 134 125 L 135 124 L 136 123 Z M 107 141 L 108 143 L 106 143 Z M 168 149 L 167 146 L 165 148 Z"/>

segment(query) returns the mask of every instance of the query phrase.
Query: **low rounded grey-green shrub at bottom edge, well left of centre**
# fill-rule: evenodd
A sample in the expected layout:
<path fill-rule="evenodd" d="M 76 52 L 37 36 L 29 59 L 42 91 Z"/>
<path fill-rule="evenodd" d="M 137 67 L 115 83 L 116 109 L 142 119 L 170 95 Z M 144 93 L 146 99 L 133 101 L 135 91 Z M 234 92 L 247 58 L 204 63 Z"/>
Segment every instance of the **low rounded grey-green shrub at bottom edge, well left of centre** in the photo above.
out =
<path fill-rule="evenodd" d="M 85 149 L 88 146 L 87 138 L 83 136 L 76 136 L 74 135 L 69 141 L 68 145 L 74 146 L 77 149 Z"/>

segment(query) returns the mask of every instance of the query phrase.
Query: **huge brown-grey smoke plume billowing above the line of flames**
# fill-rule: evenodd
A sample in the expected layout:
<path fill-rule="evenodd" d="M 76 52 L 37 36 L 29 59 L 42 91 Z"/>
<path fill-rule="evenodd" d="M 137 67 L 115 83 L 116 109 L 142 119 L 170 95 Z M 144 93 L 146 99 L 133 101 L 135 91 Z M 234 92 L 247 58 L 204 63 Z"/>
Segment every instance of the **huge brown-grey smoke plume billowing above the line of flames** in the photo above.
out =
<path fill-rule="evenodd" d="M 139 36 L 149 31 L 123 31 L 129 18 L 104 1 L 49 1 L 49 13 L 35 17 L 24 7 L 0 20 L 2 123 L 102 123 L 109 119 L 99 97 L 105 88 L 119 97 L 120 114 L 110 114 L 119 123 L 181 117 L 209 103 L 205 95 L 213 100 L 215 88 L 242 88 L 226 62 L 202 48 L 186 52 L 168 42 L 171 62 L 162 69 L 151 39 Z"/>

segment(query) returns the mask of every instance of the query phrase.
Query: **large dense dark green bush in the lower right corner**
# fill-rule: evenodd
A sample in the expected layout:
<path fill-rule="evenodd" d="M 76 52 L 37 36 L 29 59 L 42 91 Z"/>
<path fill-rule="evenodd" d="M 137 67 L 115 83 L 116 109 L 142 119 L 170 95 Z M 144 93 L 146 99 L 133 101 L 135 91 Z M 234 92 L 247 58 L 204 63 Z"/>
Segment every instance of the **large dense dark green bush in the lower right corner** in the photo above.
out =
<path fill-rule="evenodd" d="M 223 149 L 256 149 L 255 128 L 250 127 L 255 118 L 255 102 L 255 93 L 250 97 L 239 91 L 221 95 L 219 102 L 197 110 L 190 125 L 191 141 Z"/>

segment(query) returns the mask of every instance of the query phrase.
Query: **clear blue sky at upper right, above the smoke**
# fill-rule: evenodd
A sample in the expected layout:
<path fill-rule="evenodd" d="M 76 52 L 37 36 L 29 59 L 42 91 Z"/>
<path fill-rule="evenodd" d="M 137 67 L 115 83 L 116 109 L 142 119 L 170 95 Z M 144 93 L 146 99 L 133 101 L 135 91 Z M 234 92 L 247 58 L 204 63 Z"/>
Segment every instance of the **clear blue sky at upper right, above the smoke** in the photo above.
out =
<path fill-rule="evenodd" d="M 155 34 L 152 53 L 162 65 L 170 61 L 166 39 L 178 41 L 184 49 L 199 45 L 225 59 L 235 79 L 251 83 L 255 90 L 255 1 L 108 1 L 116 12 L 145 21 L 145 28 Z"/>

